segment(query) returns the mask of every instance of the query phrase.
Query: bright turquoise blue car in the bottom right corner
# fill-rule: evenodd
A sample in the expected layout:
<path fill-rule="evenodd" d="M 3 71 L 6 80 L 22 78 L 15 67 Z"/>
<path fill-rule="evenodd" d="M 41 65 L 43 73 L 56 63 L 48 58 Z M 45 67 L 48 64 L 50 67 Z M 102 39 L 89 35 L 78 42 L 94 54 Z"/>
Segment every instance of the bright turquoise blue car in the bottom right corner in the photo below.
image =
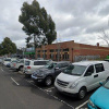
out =
<path fill-rule="evenodd" d="M 109 109 L 109 81 L 90 96 L 87 106 L 88 109 Z"/>

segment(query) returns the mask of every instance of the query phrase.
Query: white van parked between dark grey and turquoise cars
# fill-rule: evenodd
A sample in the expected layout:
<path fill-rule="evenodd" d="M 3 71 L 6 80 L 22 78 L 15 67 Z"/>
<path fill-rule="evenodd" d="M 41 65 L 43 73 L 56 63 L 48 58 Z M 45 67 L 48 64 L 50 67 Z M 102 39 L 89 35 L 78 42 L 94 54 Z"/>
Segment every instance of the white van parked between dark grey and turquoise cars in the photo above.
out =
<path fill-rule="evenodd" d="M 109 62 L 106 61 L 83 61 L 75 62 L 60 73 L 55 86 L 59 92 L 70 95 L 77 95 L 83 99 L 86 92 L 99 86 L 99 82 L 109 78 Z"/>

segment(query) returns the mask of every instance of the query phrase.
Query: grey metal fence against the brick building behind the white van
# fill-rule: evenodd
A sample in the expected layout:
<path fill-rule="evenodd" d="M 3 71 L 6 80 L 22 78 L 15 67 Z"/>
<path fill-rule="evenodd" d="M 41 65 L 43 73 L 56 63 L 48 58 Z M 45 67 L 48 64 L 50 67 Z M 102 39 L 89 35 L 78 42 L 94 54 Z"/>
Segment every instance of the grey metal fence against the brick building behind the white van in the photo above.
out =
<path fill-rule="evenodd" d="M 100 56 L 75 56 L 74 62 L 84 61 L 84 60 L 99 60 Z"/>

